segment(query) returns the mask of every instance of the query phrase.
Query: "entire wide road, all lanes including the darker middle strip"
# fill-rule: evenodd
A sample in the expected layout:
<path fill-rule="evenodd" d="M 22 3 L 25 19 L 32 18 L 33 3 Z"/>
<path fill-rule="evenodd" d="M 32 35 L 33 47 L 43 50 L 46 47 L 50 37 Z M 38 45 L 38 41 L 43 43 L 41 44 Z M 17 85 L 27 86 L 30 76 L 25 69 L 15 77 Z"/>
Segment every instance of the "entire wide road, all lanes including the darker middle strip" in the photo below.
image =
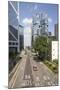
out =
<path fill-rule="evenodd" d="M 33 65 L 37 66 L 37 71 L 33 70 Z M 27 51 L 27 55 L 23 55 L 21 63 L 9 82 L 9 88 L 55 85 L 58 85 L 58 76 L 42 62 L 36 62 L 30 51 Z"/>

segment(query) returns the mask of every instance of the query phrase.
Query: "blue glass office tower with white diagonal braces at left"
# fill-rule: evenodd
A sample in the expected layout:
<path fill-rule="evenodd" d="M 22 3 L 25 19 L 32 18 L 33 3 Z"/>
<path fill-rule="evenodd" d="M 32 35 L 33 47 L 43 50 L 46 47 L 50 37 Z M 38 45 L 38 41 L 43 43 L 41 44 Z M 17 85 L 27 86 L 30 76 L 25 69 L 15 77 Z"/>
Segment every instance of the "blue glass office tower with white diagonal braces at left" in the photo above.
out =
<path fill-rule="evenodd" d="M 18 4 L 8 2 L 9 52 L 18 52 Z"/>

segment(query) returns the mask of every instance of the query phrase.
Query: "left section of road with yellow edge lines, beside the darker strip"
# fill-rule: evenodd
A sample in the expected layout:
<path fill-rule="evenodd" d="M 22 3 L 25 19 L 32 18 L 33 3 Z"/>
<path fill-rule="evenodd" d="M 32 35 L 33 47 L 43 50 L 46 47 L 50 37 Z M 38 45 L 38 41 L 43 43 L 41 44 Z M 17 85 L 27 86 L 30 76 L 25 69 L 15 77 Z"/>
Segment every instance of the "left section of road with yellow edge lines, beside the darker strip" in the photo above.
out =
<path fill-rule="evenodd" d="M 24 55 L 21 60 L 21 63 L 17 67 L 15 74 L 13 75 L 12 79 L 9 82 L 9 88 L 20 88 L 25 86 L 25 82 L 23 81 L 23 76 L 24 76 L 26 58 L 27 56 Z"/>

